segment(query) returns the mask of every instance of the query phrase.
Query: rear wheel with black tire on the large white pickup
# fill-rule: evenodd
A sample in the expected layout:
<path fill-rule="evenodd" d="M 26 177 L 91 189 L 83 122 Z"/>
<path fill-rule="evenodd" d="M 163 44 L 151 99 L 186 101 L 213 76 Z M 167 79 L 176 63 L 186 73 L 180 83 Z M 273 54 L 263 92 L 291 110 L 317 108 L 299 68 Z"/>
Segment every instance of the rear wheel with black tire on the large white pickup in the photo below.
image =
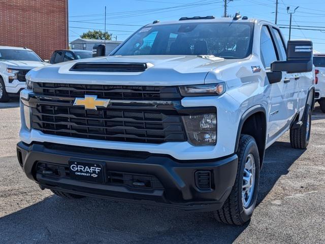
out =
<path fill-rule="evenodd" d="M 307 149 L 310 138 L 311 113 L 310 105 L 307 104 L 302 120 L 303 125 L 300 128 L 290 129 L 290 144 L 292 148 Z"/>

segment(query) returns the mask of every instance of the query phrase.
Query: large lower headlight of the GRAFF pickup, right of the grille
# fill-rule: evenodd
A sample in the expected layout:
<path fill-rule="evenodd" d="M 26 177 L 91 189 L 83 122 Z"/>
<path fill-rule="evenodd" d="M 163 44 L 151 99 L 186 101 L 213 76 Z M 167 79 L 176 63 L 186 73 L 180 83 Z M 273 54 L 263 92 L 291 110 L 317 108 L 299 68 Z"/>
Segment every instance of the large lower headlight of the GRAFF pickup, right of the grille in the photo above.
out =
<path fill-rule="evenodd" d="M 216 114 L 184 116 L 188 141 L 194 146 L 211 146 L 217 141 Z"/>

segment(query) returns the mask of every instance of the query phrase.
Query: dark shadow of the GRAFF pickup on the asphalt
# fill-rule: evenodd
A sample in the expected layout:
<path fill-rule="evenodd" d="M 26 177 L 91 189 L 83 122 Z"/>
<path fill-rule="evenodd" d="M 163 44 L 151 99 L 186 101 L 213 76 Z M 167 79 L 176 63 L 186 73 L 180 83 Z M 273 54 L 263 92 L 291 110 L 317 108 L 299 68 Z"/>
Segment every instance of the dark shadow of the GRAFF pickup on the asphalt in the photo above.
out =
<path fill-rule="evenodd" d="M 303 153 L 304 150 L 291 149 L 287 142 L 276 142 L 266 151 L 257 204 Z M 219 224 L 211 213 L 50 196 L 1 218 L 0 240 L 3 243 L 232 243 L 248 225 Z"/>

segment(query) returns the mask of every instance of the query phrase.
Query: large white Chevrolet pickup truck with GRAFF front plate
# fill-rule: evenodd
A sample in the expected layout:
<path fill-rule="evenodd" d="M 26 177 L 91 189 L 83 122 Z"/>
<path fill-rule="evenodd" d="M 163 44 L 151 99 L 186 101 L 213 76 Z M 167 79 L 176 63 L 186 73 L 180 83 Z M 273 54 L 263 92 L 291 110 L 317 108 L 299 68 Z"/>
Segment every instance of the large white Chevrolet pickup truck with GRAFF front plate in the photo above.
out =
<path fill-rule="evenodd" d="M 306 149 L 312 42 L 267 21 L 193 17 L 146 25 L 110 56 L 27 74 L 20 166 L 41 189 L 249 221 L 265 150 Z"/>

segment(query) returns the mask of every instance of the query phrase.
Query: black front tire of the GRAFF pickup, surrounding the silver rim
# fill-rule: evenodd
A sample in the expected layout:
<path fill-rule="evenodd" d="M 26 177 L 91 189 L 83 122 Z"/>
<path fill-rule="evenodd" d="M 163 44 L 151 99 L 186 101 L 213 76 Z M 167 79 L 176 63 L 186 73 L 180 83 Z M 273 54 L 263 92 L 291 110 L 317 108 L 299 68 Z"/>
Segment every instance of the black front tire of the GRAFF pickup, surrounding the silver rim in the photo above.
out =
<path fill-rule="evenodd" d="M 238 169 L 236 181 L 229 197 L 224 202 L 222 208 L 214 212 L 217 221 L 224 224 L 243 225 L 248 222 L 253 214 L 256 205 L 258 183 L 259 183 L 259 154 L 255 139 L 250 135 L 241 135 L 238 150 Z M 255 182 L 252 186 L 253 192 L 250 202 L 246 207 L 243 204 L 242 189 L 246 160 L 248 157 L 254 158 Z"/>

